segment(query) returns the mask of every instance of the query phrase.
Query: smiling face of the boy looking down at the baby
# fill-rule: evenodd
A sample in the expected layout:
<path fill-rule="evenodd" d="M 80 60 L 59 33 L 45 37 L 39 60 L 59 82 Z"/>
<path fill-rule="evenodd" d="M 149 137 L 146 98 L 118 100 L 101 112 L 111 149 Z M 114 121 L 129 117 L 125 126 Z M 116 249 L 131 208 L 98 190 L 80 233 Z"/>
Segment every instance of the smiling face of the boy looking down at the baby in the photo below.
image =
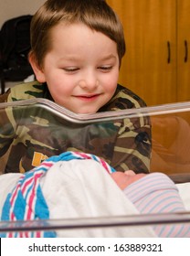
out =
<path fill-rule="evenodd" d="M 54 101 L 76 113 L 98 112 L 111 100 L 119 77 L 117 45 L 83 24 L 59 24 L 50 32 L 51 48 L 36 67 Z M 34 68 L 34 63 L 33 68 Z"/>

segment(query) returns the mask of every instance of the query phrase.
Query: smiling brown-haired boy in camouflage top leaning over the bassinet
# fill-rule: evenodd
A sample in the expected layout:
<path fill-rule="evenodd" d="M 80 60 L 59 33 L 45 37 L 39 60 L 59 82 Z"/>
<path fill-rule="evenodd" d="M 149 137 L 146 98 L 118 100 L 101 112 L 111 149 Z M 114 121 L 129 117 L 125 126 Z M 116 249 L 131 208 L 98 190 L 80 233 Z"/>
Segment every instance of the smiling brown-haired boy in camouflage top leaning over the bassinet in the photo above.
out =
<path fill-rule="evenodd" d="M 45 98 L 79 114 L 144 107 L 142 99 L 117 84 L 124 53 L 121 22 L 105 1 L 47 0 L 31 23 L 29 62 L 37 81 L 16 86 L 0 101 Z M 118 171 L 149 172 L 148 118 L 118 120 L 103 129 L 92 124 L 76 135 L 77 129 L 66 131 L 60 120 L 31 112 L 13 112 L 0 121 L 13 126 L 0 134 L 0 155 L 12 145 L 6 173 L 25 172 L 69 150 L 99 155 Z M 55 137 L 51 123 L 58 129 Z"/>

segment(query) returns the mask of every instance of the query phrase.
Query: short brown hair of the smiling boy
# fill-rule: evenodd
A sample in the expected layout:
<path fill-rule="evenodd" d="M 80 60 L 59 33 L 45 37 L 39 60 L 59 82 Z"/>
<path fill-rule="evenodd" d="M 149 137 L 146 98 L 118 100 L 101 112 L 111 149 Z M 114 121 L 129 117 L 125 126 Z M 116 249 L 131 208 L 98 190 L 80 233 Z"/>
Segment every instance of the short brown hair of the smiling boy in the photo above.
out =
<path fill-rule="evenodd" d="M 121 59 L 125 53 L 123 28 L 119 17 L 104 0 L 47 0 L 31 22 L 31 51 L 41 67 L 50 50 L 50 31 L 59 23 L 82 23 L 90 29 L 110 37 L 117 44 Z"/>

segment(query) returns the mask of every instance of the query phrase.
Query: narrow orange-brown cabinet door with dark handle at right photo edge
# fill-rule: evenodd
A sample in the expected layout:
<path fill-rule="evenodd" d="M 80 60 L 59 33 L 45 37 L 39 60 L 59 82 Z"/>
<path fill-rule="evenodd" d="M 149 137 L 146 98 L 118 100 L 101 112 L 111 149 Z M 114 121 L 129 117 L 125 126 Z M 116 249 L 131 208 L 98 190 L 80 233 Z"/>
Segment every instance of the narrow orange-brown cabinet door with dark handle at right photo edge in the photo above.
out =
<path fill-rule="evenodd" d="M 177 101 L 190 101 L 190 1 L 177 1 Z"/>

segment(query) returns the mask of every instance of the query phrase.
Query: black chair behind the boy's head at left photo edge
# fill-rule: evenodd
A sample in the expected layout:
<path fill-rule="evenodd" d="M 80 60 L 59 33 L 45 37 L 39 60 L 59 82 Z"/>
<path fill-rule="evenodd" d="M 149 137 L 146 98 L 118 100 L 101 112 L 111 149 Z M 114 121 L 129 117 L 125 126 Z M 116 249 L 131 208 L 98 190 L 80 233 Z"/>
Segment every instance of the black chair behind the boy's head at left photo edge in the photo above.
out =
<path fill-rule="evenodd" d="M 0 30 L 1 93 L 5 92 L 5 81 L 22 81 L 33 74 L 27 60 L 31 18 L 28 15 L 6 20 Z"/>

